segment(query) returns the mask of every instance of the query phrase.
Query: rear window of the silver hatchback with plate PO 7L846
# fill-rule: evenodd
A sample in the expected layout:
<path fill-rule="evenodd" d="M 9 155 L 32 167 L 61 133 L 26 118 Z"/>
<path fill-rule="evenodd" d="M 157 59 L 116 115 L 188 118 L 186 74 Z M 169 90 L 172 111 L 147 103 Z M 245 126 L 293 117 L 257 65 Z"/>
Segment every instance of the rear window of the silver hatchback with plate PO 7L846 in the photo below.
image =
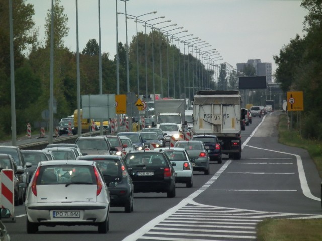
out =
<path fill-rule="evenodd" d="M 68 183 L 96 184 L 93 166 L 50 165 L 40 168 L 37 185 Z"/>

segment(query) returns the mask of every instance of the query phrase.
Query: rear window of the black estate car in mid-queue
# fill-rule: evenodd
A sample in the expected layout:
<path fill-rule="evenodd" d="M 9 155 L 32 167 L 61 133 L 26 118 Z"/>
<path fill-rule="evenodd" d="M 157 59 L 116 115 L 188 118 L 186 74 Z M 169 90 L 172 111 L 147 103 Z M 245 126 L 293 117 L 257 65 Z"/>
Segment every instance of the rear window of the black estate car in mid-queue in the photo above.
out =
<path fill-rule="evenodd" d="M 126 166 L 168 166 L 166 158 L 160 153 L 130 153 L 126 156 Z"/>

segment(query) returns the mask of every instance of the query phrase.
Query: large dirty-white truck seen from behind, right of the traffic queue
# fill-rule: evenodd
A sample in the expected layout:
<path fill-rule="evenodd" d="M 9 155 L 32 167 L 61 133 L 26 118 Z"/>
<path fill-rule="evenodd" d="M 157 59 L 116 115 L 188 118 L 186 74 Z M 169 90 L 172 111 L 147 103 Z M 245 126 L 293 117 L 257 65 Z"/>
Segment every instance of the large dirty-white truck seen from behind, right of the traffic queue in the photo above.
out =
<path fill-rule="evenodd" d="M 238 90 L 197 91 L 193 101 L 193 134 L 216 135 L 222 153 L 241 158 L 241 96 Z"/>

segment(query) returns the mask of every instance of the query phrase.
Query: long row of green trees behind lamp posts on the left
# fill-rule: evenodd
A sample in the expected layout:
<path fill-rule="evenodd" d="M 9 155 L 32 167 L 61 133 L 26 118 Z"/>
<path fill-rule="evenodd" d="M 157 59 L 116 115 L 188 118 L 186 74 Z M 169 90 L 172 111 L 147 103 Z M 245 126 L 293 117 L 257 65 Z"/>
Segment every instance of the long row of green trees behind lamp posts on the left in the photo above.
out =
<path fill-rule="evenodd" d="M 0 135 L 11 133 L 8 2 L 8 0 L 0 0 L 0 21 L 2 23 L 0 25 L 0 111 L 2 113 L 0 115 Z M 32 18 L 33 5 L 26 3 L 26 0 L 15 0 L 12 3 L 16 126 L 17 134 L 20 134 L 26 132 L 27 123 L 33 124 L 41 119 L 41 112 L 48 109 L 51 10 L 48 10 L 46 17 L 46 37 L 41 42 Z M 67 21 L 68 16 L 64 14 L 60 0 L 55 0 L 54 97 L 57 100 L 57 114 L 54 117 L 56 119 L 71 115 L 77 107 L 76 53 L 66 48 L 63 41 L 69 31 Z M 147 46 L 146 52 L 145 46 Z M 118 44 L 120 94 L 127 92 L 126 48 L 127 46 L 121 42 Z M 153 93 L 154 79 L 155 93 L 163 93 L 164 97 L 192 99 L 193 90 L 235 88 L 236 86 L 235 72 L 230 71 L 230 75 L 227 76 L 224 64 L 206 68 L 206 60 L 198 59 L 190 53 L 182 54 L 182 51 L 159 31 L 153 30 L 148 34 L 140 32 L 137 36 L 133 36 L 128 50 L 131 92 L 138 93 L 137 76 L 139 76 L 140 94 L 146 94 L 146 88 L 148 88 L 148 94 Z M 113 59 L 109 58 L 108 53 L 102 53 L 101 56 L 103 94 L 116 94 L 116 56 Z M 95 39 L 90 39 L 80 53 L 80 62 L 81 95 L 99 94 L 99 45 Z M 147 68 L 145 68 L 146 65 Z"/>

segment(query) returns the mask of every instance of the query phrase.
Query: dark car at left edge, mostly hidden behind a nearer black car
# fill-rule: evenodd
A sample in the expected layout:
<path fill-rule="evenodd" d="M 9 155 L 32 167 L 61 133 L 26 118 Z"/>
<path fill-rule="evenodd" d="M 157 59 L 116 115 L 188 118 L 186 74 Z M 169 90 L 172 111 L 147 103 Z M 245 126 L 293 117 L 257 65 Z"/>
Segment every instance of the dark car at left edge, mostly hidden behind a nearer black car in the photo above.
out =
<path fill-rule="evenodd" d="M 30 162 L 25 162 L 24 157 L 21 154 L 20 148 L 17 146 L 0 146 L 0 153 L 10 154 L 16 162 L 17 168 L 24 170 L 21 174 L 22 181 L 24 183 L 29 183 L 29 171 L 28 168 L 32 166 Z M 24 188 L 24 199 L 26 195 L 26 188 Z"/>

